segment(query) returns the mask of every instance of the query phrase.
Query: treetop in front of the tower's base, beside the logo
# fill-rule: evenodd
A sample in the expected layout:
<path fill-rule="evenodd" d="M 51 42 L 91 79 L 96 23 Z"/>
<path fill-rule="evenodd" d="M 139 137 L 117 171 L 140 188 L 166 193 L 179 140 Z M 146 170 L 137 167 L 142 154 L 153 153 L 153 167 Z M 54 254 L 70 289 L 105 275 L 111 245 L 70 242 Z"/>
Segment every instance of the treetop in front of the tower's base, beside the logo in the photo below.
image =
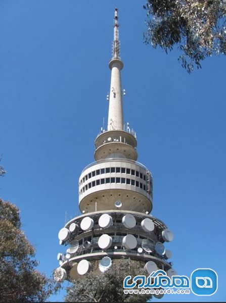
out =
<path fill-rule="evenodd" d="M 128 259 L 114 261 L 105 273 L 90 272 L 84 278 L 74 280 L 74 284 L 67 288 L 65 302 L 146 302 L 151 295 L 123 293 L 124 278 L 147 274 L 143 267 L 139 262 Z"/>

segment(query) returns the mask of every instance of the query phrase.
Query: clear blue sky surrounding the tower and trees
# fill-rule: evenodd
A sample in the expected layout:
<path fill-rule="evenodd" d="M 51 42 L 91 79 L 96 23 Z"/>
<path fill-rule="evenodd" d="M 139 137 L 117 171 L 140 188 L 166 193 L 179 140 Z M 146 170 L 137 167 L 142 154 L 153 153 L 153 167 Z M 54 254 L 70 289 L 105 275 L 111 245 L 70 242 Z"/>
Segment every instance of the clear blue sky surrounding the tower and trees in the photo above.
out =
<path fill-rule="evenodd" d="M 50 275 L 64 251 L 58 231 L 80 213 L 78 178 L 107 118 L 117 7 L 125 121 L 137 132 L 138 161 L 153 174 L 152 215 L 174 232 L 166 248 L 178 274 L 212 268 L 219 278 L 213 296 L 164 300 L 224 301 L 225 57 L 189 75 L 177 49 L 166 55 L 143 43 L 143 4 L 1 1 L 0 196 L 20 208 L 39 270 Z"/>

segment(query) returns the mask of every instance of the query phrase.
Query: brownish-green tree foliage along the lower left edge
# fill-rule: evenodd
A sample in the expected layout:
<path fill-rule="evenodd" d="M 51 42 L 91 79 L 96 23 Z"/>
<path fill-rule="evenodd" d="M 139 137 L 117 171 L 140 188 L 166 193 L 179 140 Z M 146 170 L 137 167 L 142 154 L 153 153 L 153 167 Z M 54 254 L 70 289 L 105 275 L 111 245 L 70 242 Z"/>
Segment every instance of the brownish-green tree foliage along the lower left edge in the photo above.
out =
<path fill-rule="evenodd" d="M 35 270 L 35 250 L 20 227 L 19 209 L 0 198 L 0 302 L 44 301 L 59 285 Z"/>

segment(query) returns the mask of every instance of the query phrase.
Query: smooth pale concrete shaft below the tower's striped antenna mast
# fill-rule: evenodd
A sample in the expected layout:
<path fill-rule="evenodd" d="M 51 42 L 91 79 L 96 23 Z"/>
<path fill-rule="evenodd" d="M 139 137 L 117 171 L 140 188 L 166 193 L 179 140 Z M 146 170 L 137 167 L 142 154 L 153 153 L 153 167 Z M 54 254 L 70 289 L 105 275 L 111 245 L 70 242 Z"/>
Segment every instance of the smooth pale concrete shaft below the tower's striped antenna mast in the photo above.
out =
<path fill-rule="evenodd" d="M 123 107 L 121 89 L 121 60 L 112 60 L 109 64 L 111 69 L 111 86 L 108 111 L 108 130 L 123 130 Z"/>

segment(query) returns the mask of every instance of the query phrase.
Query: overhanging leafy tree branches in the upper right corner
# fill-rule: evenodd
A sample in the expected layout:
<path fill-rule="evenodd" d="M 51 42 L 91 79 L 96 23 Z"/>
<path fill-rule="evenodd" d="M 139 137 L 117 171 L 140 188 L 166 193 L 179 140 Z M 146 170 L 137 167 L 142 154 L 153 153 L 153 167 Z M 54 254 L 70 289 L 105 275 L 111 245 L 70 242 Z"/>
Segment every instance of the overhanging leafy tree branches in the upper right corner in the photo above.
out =
<path fill-rule="evenodd" d="M 179 61 L 191 73 L 212 55 L 226 54 L 225 0 L 146 0 L 145 43 L 166 53 L 177 45 Z"/>

